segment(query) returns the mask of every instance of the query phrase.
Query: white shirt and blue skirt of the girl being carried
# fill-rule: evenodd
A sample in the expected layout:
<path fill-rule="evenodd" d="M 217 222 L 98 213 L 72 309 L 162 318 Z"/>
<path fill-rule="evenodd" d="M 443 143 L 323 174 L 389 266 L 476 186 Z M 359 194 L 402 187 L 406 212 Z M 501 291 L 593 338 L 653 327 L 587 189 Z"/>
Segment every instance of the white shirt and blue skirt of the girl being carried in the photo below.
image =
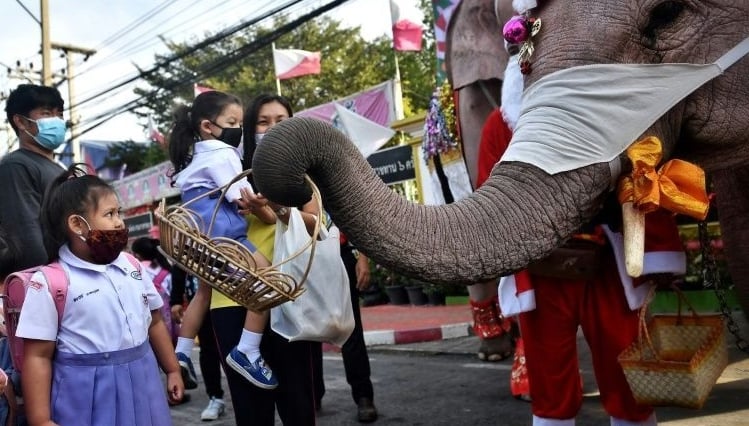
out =
<path fill-rule="evenodd" d="M 190 164 L 177 174 L 176 185 L 180 188 L 182 202 L 186 203 L 201 194 L 226 185 L 241 172 L 242 163 L 236 148 L 217 140 L 199 141 L 195 143 Z M 249 182 L 242 179 L 229 187 L 225 197 L 219 198 L 221 194 L 216 192 L 214 195 L 193 201 L 187 209 L 198 216 L 198 223 L 202 226 L 201 231 L 204 234 L 214 238 L 231 238 L 254 252 L 255 245 L 247 239 L 247 221 L 239 214 L 234 204 L 234 201 L 241 197 L 240 188 L 252 191 Z M 217 203 L 218 213 L 211 232 L 208 233 Z"/>

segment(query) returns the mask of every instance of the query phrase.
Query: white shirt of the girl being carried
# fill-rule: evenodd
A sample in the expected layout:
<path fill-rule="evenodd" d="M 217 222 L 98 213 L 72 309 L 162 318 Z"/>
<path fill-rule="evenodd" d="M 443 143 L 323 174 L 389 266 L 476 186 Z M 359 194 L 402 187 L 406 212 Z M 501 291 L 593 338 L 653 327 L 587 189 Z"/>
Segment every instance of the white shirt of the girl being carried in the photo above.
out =
<path fill-rule="evenodd" d="M 195 142 L 190 164 L 177 174 L 176 185 L 185 193 L 191 189 L 215 189 L 231 182 L 242 173 L 242 161 L 237 149 L 218 140 Z M 252 186 L 246 179 L 232 184 L 226 191 L 226 200 L 234 202 L 242 197 L 241 188 L 251 192 Z"/>

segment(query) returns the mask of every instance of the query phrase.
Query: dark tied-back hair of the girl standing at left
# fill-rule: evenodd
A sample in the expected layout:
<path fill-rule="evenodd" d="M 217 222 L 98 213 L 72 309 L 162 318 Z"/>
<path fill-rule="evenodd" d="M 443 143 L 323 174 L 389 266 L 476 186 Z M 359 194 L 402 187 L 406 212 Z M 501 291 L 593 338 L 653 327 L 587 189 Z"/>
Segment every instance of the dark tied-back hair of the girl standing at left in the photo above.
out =
<path fill-rule="evenodd" d="M 39 221 L 49 261 L 58 258 L 58 250 L 68 241 L 68 217 L 85 217 L 99 207 L 105 195 L 116 194 L 101 178 L 89 175 L 85 164 L 71 165 L 53 180 L 44 193 Z"/>

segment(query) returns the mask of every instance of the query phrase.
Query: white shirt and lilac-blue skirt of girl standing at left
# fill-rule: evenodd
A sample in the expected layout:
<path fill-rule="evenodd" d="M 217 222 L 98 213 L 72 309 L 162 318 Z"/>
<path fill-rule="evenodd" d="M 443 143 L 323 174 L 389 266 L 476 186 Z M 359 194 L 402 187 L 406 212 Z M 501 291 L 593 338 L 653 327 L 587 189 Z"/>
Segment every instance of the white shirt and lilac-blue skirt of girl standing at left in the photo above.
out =
<path fill-rule="evenodd" d="M 17 335 L 56 341 L 50 409 L 60 426 L 171 425 L 156 358 L 148 342 L 151 311 L 162 305 L 153 283 L 125 254 L 97 265 L 67 246 L 60 263 L 70 286 L 62 321 L 41 273 L 32 278 Z"/>

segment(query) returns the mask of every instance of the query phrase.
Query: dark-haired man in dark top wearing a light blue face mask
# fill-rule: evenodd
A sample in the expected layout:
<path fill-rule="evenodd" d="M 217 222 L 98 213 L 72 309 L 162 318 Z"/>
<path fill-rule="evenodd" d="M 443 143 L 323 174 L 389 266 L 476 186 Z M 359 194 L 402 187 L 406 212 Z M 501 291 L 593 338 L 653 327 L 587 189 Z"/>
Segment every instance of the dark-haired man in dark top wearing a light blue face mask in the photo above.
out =
<path fill-rule="evenodd" d="M 0 160 L 0 224 L 23 253 L 14 270 L 47 262 L 39 211 L 44 191 L 64 171 L 54 150 L 65 141 L 64 101 L 53 87 L 22 84 L 5 106 L 18 149 Z"/>

